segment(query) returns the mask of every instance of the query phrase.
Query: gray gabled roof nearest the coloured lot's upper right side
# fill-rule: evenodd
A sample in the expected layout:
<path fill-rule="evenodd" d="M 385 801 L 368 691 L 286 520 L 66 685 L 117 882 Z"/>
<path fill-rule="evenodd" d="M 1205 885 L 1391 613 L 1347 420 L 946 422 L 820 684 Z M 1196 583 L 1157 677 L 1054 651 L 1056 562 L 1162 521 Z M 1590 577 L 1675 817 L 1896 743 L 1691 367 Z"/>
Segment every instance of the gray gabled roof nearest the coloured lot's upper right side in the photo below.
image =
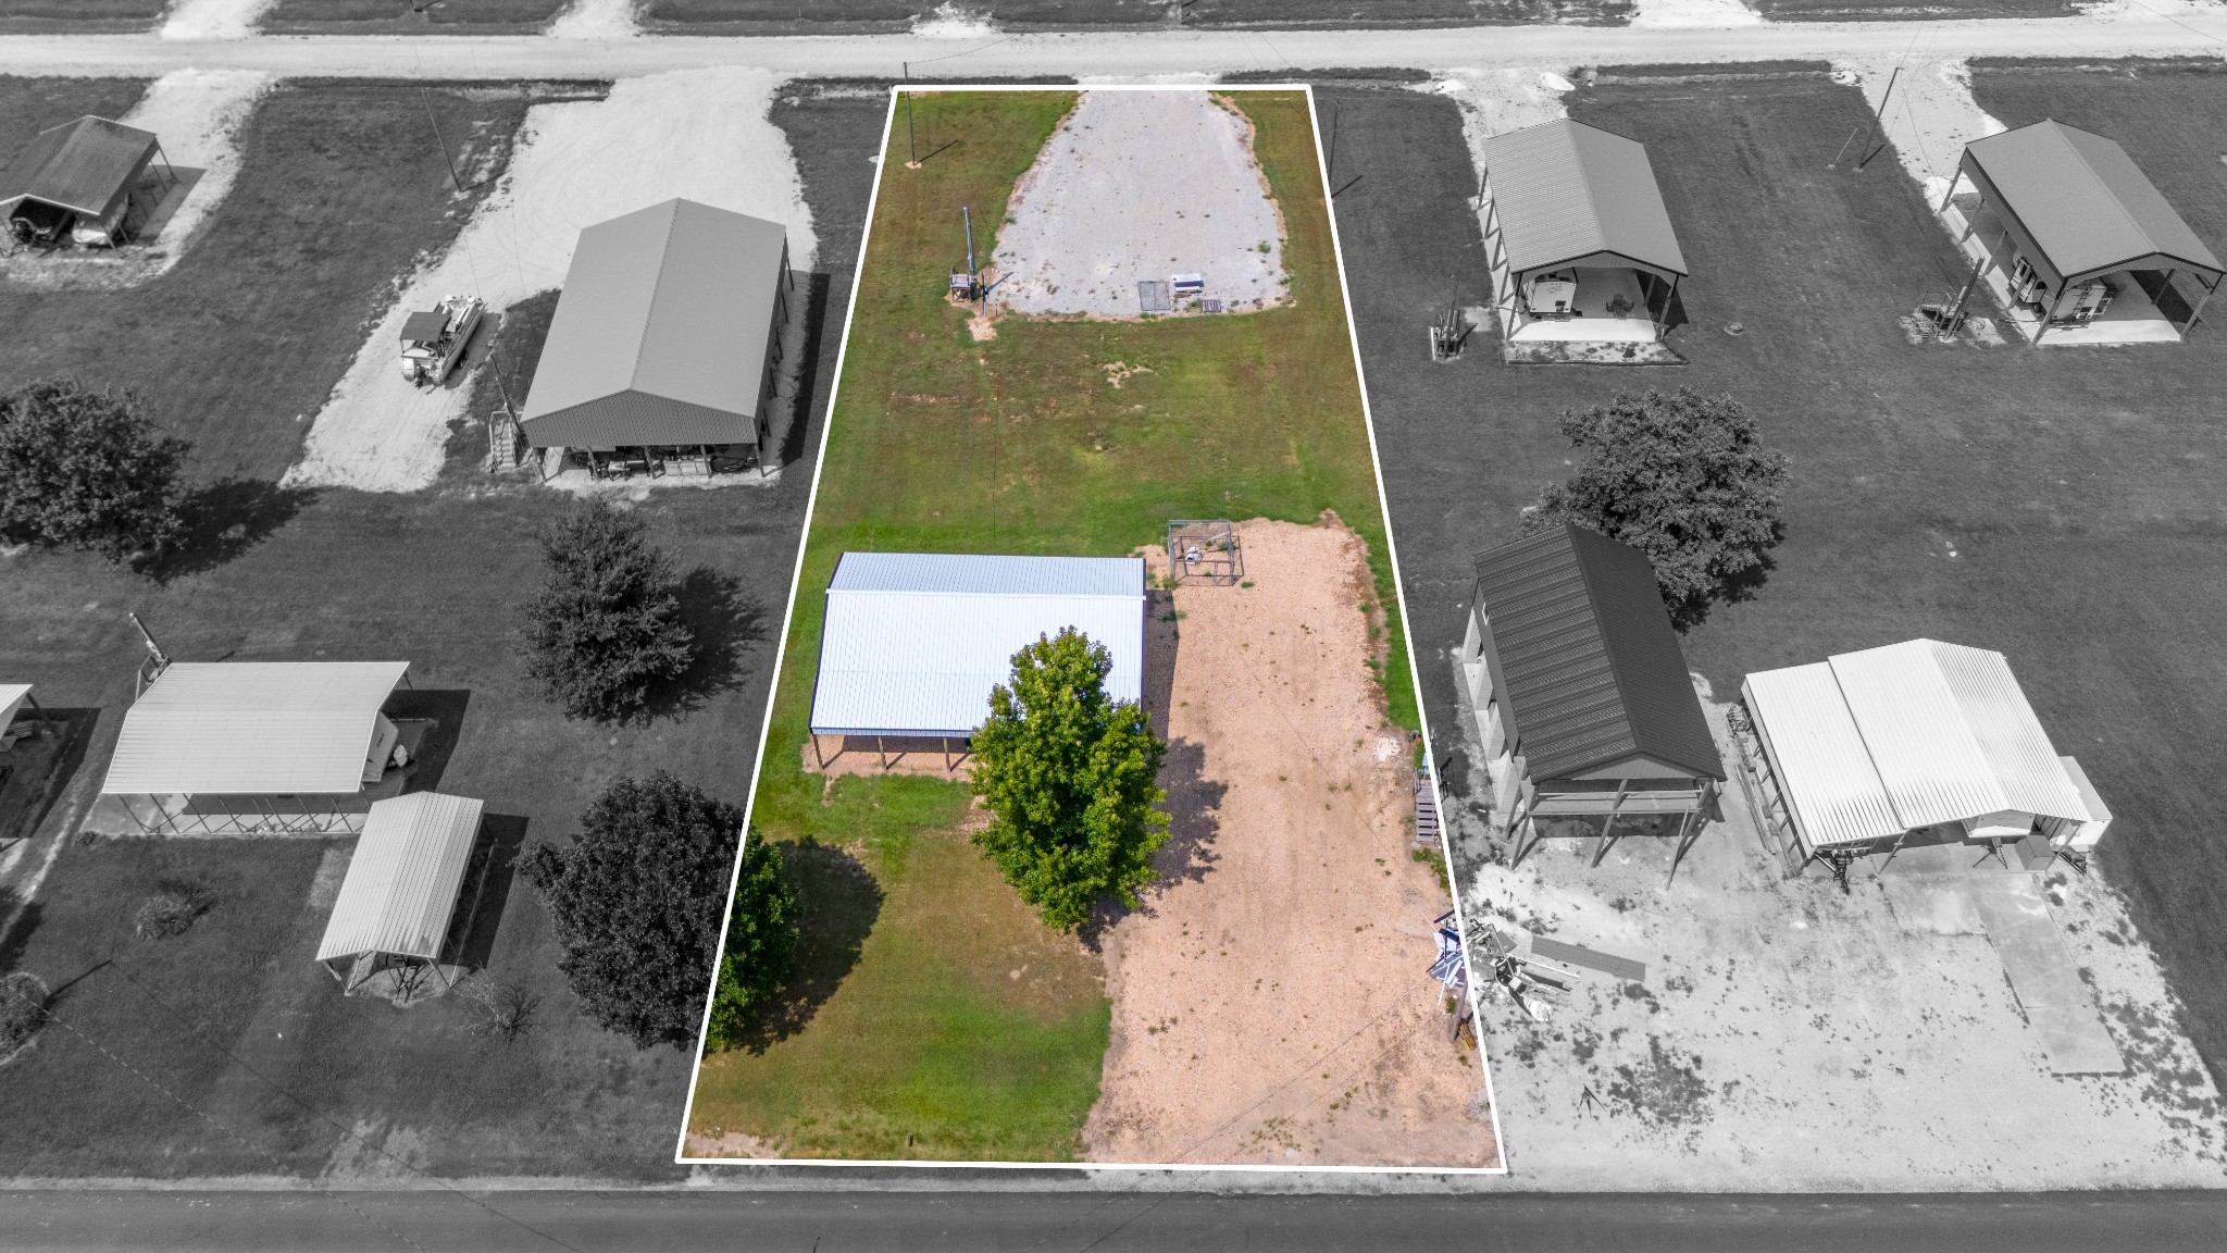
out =
<path fill-rule="evenodd" d="M 1639 140 L 1568 118 L 1479 145 L 1508 265 L 1630 265 L 1686 274 L 1655 165 Z"/>

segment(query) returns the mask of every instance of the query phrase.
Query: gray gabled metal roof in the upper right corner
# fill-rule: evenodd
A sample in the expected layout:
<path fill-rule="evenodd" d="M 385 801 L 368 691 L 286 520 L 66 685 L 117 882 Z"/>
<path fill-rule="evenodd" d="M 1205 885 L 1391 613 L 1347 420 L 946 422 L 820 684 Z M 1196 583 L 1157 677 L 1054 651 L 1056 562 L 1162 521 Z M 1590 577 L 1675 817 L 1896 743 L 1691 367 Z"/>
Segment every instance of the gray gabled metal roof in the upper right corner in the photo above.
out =
<path fill-rule="evenodd" d="M 2051 290 L 2118 270 L 2223 274 L 2127 149 L 2100 134 L 2040 120 L 1971 140 L 1960 172 L 2002 212 Z"/>

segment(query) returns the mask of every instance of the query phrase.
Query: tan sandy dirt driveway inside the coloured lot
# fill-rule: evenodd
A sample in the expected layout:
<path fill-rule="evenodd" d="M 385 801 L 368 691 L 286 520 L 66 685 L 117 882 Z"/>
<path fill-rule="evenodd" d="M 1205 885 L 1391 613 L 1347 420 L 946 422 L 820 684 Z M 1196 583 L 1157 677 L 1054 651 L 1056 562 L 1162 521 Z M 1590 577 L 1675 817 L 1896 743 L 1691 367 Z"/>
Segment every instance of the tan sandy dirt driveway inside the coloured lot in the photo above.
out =
<path fill-rule="evenodd" d="M 1180 620 L 1154 615 L 1174 836 L 1162 885 L 1105 939 L 1114 1037 L 1085 1157 L 1497 1166 L 1481 1059 L 1428 979 L 1448 901 L 1407 856 L 1363 544 L 1332 524 L 1238 535 L 1252 586 L 1178 586 Z"/>

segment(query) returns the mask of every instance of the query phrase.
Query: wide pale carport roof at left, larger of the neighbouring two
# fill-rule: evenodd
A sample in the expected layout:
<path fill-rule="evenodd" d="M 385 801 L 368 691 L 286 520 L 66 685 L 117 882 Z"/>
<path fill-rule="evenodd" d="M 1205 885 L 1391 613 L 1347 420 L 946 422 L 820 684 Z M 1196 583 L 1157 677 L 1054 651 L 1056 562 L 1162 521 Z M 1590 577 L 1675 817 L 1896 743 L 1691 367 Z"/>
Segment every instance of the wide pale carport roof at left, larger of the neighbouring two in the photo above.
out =
<path fill-rule="evenodd" d="M 350 794 L 410 662 L 174 662 L 125 713 L 102 794 Z"/>

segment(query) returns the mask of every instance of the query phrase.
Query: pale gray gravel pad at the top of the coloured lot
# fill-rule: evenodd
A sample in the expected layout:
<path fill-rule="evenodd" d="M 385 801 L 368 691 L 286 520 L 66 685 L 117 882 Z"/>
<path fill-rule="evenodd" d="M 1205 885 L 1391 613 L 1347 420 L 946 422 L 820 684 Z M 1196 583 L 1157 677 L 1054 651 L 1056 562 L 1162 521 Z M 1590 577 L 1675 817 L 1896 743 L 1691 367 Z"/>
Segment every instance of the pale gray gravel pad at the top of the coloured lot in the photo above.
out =
<path fill-rule="evenodd" d="M 1283 221 L 1252 127 L 1205 89 L 1085 91 L 1013 192 L 991 301 L 1138 317 L 1138 283 L 1203 274 L 1207 299 L 1283 303 Z"/>

